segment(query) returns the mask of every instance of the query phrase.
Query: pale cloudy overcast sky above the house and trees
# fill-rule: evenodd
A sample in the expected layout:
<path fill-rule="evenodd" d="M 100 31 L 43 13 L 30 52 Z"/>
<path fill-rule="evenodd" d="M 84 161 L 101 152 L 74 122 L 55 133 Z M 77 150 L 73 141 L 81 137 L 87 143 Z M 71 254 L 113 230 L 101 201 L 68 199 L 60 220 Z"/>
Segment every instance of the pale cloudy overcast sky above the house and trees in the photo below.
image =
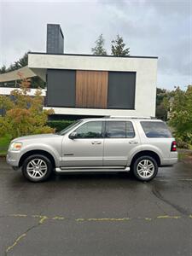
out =
<path fill-rule="evenodd" d="M 110 54 L 119 34 L 131 55 L 159 57 L 157 86 L 192 84 L 192 0 L 0 0 L 0 66 L 44 52 L 47 23 L 61 25 L 66 53 L 90 54 L 102 33 Z"/>

